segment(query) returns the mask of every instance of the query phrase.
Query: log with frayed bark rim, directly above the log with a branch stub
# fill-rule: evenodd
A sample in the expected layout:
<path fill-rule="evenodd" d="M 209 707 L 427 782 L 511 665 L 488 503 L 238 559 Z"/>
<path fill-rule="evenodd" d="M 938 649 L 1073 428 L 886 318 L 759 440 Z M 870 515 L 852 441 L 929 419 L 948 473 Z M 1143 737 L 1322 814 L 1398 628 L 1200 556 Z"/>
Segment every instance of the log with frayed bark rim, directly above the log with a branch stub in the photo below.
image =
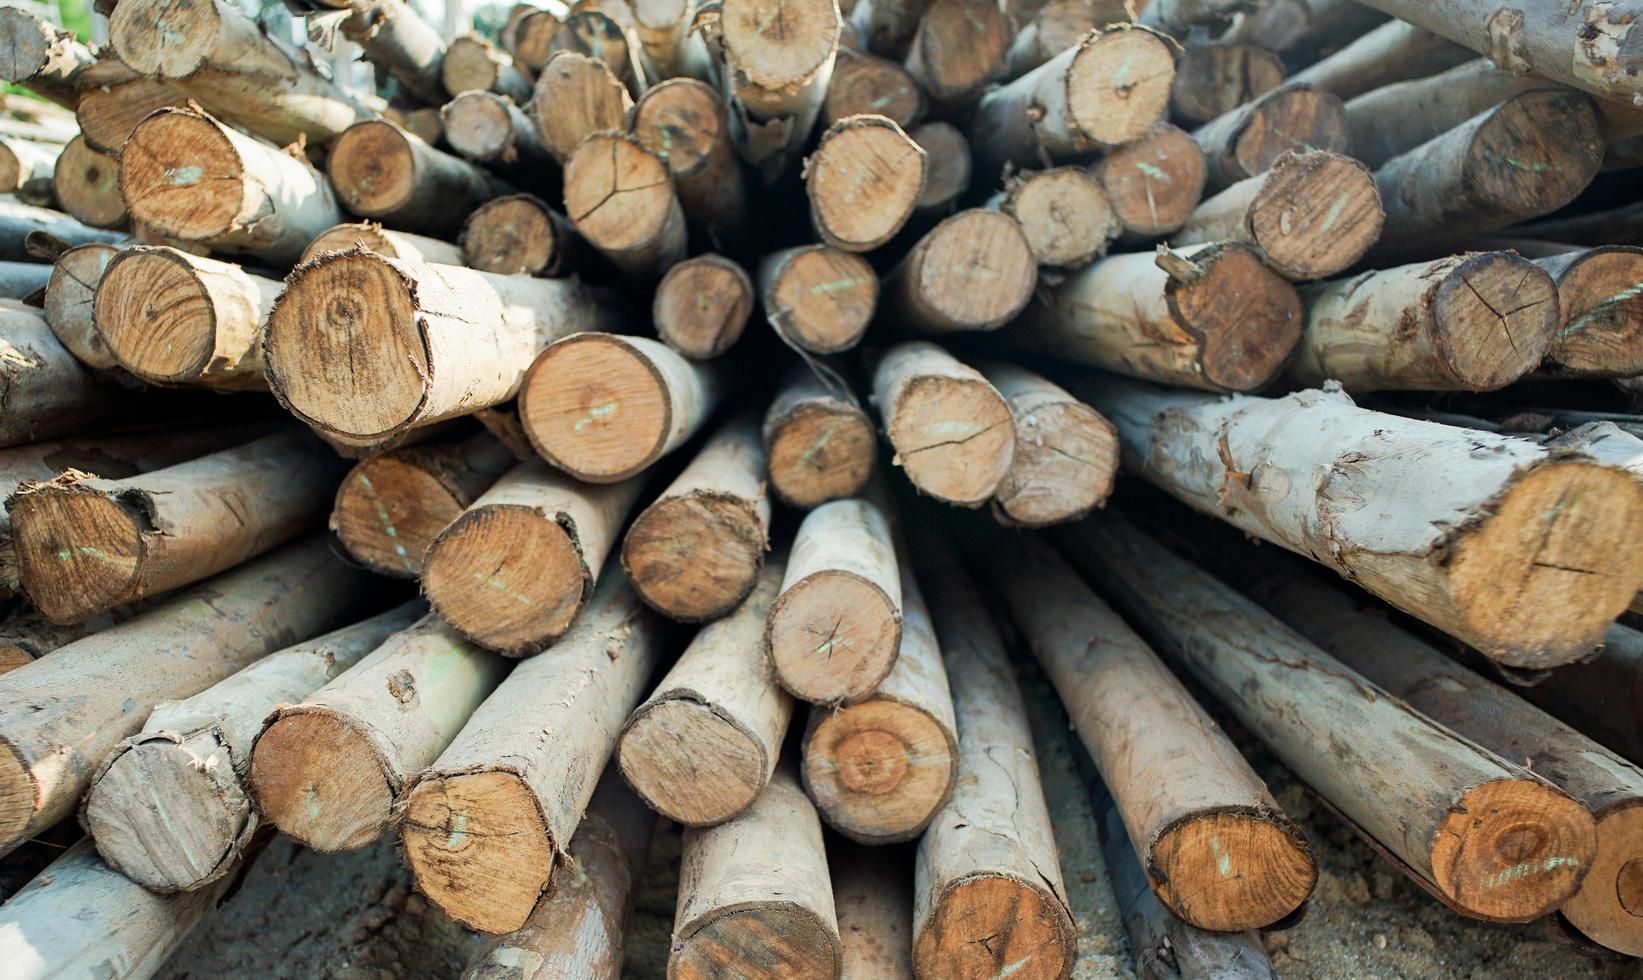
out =
<path fill-rule="evenodd" d="M 1346 271 L 1380 238 L 1375 178 L 1349 156 L 1285 153 L 1188 215 L 1171 245 L 1244 242 L 1290 280 Z"/>

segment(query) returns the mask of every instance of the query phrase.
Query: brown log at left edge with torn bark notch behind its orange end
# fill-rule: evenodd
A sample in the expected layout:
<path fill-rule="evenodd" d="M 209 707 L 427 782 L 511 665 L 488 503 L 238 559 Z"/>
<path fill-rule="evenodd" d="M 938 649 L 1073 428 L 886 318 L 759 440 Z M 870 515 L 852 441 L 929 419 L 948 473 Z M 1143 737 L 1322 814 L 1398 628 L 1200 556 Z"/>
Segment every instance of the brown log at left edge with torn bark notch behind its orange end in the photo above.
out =
<path fill-rule="evenodd" d="M 72 623 L 230 569 L 317 525 L 338 464 L 288 429 L 136 477 L 25 483 L 7 502 L 23 590 Z"/>

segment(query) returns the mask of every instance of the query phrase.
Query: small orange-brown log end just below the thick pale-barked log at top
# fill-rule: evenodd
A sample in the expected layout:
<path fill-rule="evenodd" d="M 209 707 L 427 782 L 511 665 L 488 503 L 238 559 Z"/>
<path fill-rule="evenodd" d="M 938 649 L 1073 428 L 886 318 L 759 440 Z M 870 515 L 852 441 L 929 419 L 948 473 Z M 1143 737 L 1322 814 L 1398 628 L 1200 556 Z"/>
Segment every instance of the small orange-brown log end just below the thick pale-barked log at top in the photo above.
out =
<path fill-rule="evenodd" d="M 1208 179 L 1204 151 L 1170 123 L 1107 153 L 1093 169 L 1129 240 L 1180 229 L 1203 199 Z"/>

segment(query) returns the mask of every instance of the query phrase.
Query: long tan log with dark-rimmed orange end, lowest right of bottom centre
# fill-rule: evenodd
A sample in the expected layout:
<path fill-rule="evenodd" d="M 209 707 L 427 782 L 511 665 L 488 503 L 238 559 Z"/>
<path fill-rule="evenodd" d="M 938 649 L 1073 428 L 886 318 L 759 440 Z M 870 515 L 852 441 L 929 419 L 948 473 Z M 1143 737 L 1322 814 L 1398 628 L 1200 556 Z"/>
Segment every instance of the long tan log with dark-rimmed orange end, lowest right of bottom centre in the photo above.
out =
<path fill-rule="evenodd" d="M 1318 883 L 1306 837 L 1147 643 L 1040 539 L 978 561 L 1066 704 L 1158 899 L 1216 932 L 1295 913 Z"/>

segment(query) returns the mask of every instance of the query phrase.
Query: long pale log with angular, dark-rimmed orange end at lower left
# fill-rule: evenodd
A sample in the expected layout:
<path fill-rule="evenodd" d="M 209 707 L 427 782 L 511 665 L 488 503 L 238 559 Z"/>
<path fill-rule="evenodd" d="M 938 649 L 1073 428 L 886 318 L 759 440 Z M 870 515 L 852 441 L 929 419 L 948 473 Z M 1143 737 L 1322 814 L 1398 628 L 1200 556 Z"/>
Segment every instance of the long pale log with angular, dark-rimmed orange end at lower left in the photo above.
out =
<path fill-rule="evenodd" d="M 628 582 L 606 576 L 554 649 L 519 664 L 473 712 L 406 784 L 396 814 L 422 894 L 468 929 L 526 924 L 565 870 L 572 834 L 665 641 Z"/>

